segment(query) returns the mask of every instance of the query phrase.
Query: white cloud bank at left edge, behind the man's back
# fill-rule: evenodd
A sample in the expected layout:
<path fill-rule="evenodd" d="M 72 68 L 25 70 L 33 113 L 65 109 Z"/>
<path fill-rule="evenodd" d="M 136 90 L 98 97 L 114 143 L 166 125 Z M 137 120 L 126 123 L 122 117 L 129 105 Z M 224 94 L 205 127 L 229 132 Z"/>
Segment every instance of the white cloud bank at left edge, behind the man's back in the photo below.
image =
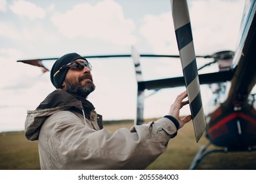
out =
<path fill-rule="evenodd" d="M 0 131 L 22 130 L 26 110 L 33 110 L 53 90 L 49 73 L 41 75 L 40 69 L 24 63 L 22 51 L 14 48 L 0 49 Z"/>

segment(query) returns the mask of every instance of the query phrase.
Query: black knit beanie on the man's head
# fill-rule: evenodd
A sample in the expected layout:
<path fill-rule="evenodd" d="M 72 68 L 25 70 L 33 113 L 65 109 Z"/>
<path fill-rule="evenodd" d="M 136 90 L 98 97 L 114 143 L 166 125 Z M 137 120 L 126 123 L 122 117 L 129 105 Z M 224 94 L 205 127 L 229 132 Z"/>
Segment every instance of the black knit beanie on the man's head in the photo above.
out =
<path fill-rule="evenodd" d="M 53 77 L 53 75 L 58 71 L 58 69 L 60 69 L 60 67 L 62 67 L 63 65 L 66 65 L 72 61 L 75 61 L 76 59 L 84 59 L 82 56 L 80 56 L 79 54 L 76 53 L 70 53 L 70 54 L 66 54 L 60 58 L 58 58 L 55 63 L 53 64 L 53 67 L 51 69 L 51 82 L 53 83 L 53 85 L 55 86 L 55 88 L 62 88 L 62 83 L 66 77 L 66 74 L 68 73 L 68 67 L 66 67 L 65 69 L 63 69 L 62 71 L 60 71 L 60 73 L 58 73 L 56 76 Z"/>

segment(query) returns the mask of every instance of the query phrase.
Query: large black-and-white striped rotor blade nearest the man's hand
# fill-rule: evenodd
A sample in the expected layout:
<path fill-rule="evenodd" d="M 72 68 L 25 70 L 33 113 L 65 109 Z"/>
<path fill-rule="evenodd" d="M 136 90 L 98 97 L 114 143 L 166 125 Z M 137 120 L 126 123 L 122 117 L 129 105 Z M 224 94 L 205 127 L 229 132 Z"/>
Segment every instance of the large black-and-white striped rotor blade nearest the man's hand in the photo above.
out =
<path fill-rule="evenodd" d="M 182 71 L 190 101 L 190 111 L 194 124 L 196 142 L 198 142 L 205 131 L 205 116 L 200 93 L 198 67 L 196 65 L 188 5 L 186 0 L 171 0 L 171 8 L 175 35 L 181 56 Z"/>

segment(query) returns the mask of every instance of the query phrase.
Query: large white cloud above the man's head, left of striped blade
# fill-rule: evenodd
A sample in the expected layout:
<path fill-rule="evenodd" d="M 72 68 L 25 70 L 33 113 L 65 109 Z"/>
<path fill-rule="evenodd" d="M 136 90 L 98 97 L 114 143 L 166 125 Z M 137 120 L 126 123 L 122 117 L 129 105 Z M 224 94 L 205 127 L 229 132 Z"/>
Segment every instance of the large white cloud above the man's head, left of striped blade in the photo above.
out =
<path fill-rule="evenodd" d="M 70 39 L 98 38 L 120 45 L 137 41 L 133 20 L 125 18 L 122 7 L 112 0 L 100 1 L 95 6 L 81 3 L 65 13 L 54 14 L 51 20 Z"/>

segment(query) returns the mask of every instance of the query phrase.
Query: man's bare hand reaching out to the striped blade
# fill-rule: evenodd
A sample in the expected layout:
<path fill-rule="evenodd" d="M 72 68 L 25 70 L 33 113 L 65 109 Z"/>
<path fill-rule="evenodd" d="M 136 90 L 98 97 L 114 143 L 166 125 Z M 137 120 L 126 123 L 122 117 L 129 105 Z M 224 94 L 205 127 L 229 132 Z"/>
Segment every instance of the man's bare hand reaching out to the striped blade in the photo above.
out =
<path fill-rule="evenodd" d="M 192 116 L 188 115 L 185 118 L 183 118 L 181 120 L 180 118 L 180 110 L 184 105 L 188 104 L 188 100 L 187 101 L 183 101 L 184 98 L 186 98 L 188 96 L 188 93 L 182 92 L 181 94 L 179 94 L 177 96 L 177 98 L 175 99 L 175 102 L 173 103 L 173 105 L 171 105 L 171 108 L 169 110 L 169 115 L 175 117 L 179 124 L 180 124 L 180 128 L 186 124 L 187 122 L 189 122 L 190 120 L 192 120 Z"/>

